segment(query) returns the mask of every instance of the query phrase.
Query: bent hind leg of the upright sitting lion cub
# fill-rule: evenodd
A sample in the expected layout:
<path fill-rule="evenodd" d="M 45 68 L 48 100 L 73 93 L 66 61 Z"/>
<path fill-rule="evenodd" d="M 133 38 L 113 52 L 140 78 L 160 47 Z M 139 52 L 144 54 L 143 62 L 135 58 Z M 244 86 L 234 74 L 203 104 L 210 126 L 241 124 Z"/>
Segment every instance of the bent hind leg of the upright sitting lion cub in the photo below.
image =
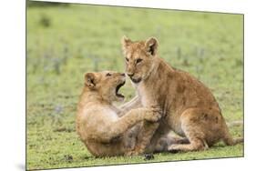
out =
<path fill-rule="evenodd" d="M 189 144 L 169 146 L 172 153 L 204 150 L 223 136 L 223 118 L 217 110 L 189 108 L 180 116 L 180 123 Z"/>

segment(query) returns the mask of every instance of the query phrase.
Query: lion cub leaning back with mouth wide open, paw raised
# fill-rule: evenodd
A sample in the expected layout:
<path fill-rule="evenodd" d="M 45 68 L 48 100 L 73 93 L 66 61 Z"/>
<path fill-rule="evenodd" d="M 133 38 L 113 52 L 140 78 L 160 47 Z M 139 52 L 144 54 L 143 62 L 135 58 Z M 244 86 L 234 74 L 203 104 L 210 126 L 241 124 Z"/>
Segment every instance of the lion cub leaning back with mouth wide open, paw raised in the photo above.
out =
<path fill-rule="evenodd" d="M 126 135 L 128 129 L 144 119 L 159 119 L 158 114 L 147 108 L 132 109 L 119 117 L 120 111 L 112 103 L 123 100 L 118 90 L 124 84 L 125 74 L 105 71 L 85 75 L 77 106 L 77 134 L 94 156 L 126 155 L 135 141 Z"/>

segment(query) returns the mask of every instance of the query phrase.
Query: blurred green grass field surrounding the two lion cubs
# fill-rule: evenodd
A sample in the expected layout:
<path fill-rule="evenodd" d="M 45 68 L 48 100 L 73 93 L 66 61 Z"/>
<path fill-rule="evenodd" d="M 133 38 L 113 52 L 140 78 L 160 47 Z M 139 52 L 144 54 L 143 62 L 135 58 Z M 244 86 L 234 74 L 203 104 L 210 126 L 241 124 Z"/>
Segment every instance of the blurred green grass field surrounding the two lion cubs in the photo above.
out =
<path fill-rule="evenodd" d="M 120 38 L 159 39 L 159 55 L 208 85 L 228 122 L 243 117 L 242 15 L 67 5 L 27 8 L 27 169 L 243 156 L 243 145 L 203 152 L 95 158 L 75 130 L 78 96 L 88 71 L 124 72 Z M 128 84 L 121 91 L 134 96 Z M 242 126 L 230 128 L 242 136 Z"/>

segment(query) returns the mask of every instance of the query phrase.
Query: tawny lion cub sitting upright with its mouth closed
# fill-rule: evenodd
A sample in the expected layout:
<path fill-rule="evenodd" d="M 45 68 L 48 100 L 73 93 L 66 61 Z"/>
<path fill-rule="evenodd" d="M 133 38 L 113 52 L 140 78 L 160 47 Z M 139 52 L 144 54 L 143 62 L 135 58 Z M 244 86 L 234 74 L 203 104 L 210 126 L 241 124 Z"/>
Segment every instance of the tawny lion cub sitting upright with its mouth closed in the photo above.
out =
<path fill-rule="evenodd" d="M 159 123 L 144 122 L 131 155 L 152 151 L 159 136 L 169 130 L 189 140 L 187 144 L 170 145 L 170 152 L 202 150 L 219 140 L 229 146 L 242 142 L 243 138 L 230 136 L 210 89 L 197 78 L 159 58 L 158 46 L 156 38 L 138 42 L 125 36 L 122 39 L 126 72 L 138 93 L 131 105 L 153 107 L 162 116 Z"/>

